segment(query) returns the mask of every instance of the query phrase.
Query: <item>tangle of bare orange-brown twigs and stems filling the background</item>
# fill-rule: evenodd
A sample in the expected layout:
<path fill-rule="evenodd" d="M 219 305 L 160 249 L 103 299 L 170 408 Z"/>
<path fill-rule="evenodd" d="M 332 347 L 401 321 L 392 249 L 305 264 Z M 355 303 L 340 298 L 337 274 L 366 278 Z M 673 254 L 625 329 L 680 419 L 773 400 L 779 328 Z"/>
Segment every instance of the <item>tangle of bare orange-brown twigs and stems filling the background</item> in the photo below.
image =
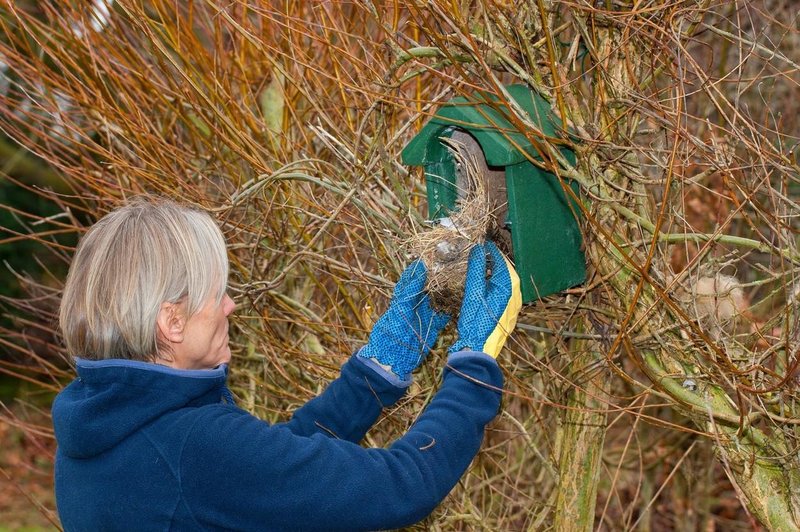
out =
<path fill-rule="evenodd" d="M 233 389 L 285 419 L 364 342 L 409 260 L 397 243 L 422 226 L 424 185 L 399 151 L 438 104 L 524 83 L 570 128 L 546 138 L 510 107 L 536 164 L 581 187 L 590 277 L 523 311 L 502 414 L 417 528 L 800 523 L 793 3 L 0 5 L 4 149 L 48 168 L 23 183 L 52 209 L 5 211 L 53 272 L 5 299 L 0 371 L 50 393 L 70 378 L 54 311 L 75 238 L 163 194 L 223 227 Z M 443 363 L 440 348 L 367 444 L 413 422 Z"/>

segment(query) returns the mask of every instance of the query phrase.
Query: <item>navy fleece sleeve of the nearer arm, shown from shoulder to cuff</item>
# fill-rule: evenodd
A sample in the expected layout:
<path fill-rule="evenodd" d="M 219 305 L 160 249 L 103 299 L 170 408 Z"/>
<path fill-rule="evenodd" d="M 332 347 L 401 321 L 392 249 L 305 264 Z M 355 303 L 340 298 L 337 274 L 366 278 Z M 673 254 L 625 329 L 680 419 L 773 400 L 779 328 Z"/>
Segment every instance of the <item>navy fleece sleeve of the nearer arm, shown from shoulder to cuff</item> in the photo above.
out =
<path fill-rule="evenodd" d="M 185 504 L 199 527 L 377 530 L 428 515 L 469 466 L 500 405 L 491 357 L 451 355 L 441 388 L 387 449 L 298 436 L 234 409 L 209 408 L 181 459 Z"/>

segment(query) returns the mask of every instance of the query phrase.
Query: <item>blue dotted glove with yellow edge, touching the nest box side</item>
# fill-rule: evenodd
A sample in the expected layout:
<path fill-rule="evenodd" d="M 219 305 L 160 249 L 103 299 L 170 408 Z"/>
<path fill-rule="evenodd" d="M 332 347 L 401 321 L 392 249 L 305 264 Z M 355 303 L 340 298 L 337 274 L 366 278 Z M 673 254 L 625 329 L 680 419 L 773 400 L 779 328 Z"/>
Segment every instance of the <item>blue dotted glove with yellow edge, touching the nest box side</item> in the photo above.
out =
<path fill-rule="evenodd" d="M 514 266 L 492 242 L 476 245 L 469 253 L 458 340 L 448 353 L 483 351 L 497 358 L 517 324 L 520 308 L 522 292 Z"/>

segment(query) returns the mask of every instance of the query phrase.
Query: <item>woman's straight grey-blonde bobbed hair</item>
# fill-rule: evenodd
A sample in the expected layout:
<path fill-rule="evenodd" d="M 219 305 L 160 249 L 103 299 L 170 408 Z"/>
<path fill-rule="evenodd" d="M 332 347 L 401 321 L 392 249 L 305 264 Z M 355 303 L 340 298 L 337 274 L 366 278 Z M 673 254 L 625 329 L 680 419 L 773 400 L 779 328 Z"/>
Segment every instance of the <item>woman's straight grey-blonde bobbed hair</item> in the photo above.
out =
<path fill-rule="evenodd" d="M 98 221 L 78 244 L 59 311 L 67 352 L 154 362 L 164 302 L 188 316 L 228 280 L 225 239 L 205 212 L 138 197 Z"/>

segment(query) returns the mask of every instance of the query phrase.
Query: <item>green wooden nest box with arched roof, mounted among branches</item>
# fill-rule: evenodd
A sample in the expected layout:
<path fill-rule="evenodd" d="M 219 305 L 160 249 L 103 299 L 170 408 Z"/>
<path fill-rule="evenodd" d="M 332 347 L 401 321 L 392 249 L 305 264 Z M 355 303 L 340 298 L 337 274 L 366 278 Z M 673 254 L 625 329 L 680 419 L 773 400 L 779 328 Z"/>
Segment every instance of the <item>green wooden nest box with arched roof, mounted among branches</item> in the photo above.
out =
<path fill-rule="evenodd" d="M 541 134 L 559 136 L 561 123 L 546 100 L 523 85 L 506 90 Z M 579 189 L 577 183 L 562 183 L 531 162 L 541 160 L 541 155 L 509 115 L 507 105 L 492 95 L 454 98 L 408 143 L 401 157 L 404 164 L 425 167 L 428 213 L 438 219 L 457 209 L 459 195 L 464 195 L 464 178 L 448 140 L 480 155 L 476 158 L 479 164 L 485 162 L 480 170 L 490 200 L 502 205 L 497 213 L 503 233 L 499 244 L 512 254 L 522 299 L 529 302 L 586 279 L 580 209 L 564 187 L 571 187 L 575 197 Z M 574 164 L 571 150 L 562 148 L 561 153 Z"/>

